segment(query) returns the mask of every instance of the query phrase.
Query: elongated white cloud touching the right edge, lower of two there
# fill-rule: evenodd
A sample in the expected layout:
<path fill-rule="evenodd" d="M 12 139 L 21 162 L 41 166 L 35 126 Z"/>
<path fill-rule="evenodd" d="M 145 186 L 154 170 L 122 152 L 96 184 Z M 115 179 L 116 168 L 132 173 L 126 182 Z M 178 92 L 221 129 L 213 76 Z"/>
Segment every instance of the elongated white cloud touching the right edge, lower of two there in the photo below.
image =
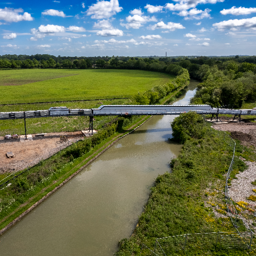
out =
<path fill-rule="evenodd" d="M 212 24 L 212 26 L 216 27 L 220 31 L 223 31 L 225 29 L 236 31 L 240 28 L 255 29 L 256 17 L 224 20 L 223 22 Z"/>

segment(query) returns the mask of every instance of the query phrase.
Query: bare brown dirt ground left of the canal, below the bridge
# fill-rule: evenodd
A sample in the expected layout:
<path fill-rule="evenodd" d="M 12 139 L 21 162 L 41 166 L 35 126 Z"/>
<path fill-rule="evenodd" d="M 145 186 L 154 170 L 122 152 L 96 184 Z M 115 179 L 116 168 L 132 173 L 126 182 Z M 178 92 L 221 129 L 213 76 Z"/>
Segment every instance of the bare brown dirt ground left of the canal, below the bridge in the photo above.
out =
<path fill-rule="evenodd" d="M 25 141 L 19 139 L 4 140 L 4 137 L 0 137 L 0 173 L 25 168 L 31 162 L 44 158 L 50 152 L 53 153 L 54 148 L 60 145 L 63 147 L 59 141 L 60 135 L 66 135 L 68 140 L 84 137 L 81 132 L 49 133 L 44 137 L 35 137 L 32 134 L 33 140 Z M 15 157 L 7 158 L 7 152 L 13 152 Z"/>

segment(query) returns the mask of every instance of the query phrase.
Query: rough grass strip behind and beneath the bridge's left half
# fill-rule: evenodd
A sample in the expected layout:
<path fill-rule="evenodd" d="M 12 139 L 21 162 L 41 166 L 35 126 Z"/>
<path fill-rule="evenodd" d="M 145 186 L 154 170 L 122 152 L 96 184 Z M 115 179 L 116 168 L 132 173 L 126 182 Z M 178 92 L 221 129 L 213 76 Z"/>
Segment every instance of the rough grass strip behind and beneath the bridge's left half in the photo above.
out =
<path fill-rule="evenodd" d="M 71 109 L 92 109 L 98 108 L 102 104 L 123 104 L 125 99 L 102 100 L 102 101 L 70 101 L 59 103 L 38 103 L 24 105 L 6 105 L 0 106 L 2 112 L 25 111 L 25 110 L 47 110 L 53 105 L 67 106 Z M 100 129 L 105 122 L 109 122 L 114 116 L 97 116 L 94 117 L 93 126 L 95 129 Z M 89 127 L 89 117 L 45 117 L 45 118 L 28 118 L 26 119 L 26 127 L 28 134 L 35 133 L 54 133 L 63 131 L 81 131 Z M 25 134 L 24 120 L 0 120 L 0 136 L 6 134 Z"/>

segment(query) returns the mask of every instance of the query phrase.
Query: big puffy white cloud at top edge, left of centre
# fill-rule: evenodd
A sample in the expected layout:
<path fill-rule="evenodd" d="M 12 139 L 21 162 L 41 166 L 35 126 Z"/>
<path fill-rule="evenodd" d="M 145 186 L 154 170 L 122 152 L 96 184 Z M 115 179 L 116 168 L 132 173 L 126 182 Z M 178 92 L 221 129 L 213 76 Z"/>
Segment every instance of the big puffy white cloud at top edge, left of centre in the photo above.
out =
<path fill-rule="evenodd" d="M 122 9 L 122 7 L 119 7 L 118 0 L 110 0 L 110 2 L 102 0 L 91 5 L 86 13 L 92 15 L 91 18 L 102 19 L 110 18 Z"/>

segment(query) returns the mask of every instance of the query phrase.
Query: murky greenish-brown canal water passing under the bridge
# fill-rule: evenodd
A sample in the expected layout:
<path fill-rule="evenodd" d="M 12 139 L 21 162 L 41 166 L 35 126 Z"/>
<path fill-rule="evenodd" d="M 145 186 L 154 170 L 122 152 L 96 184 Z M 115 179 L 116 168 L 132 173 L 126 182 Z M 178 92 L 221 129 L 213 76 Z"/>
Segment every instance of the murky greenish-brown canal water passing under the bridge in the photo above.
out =
<path fill-rule="evenodd" d="M 175 104 L 196 92 L 191 81 Z M 0 236 L 3 256 L 113 255 L 135 229 L 158 174 L 181 145 L 168 143 L 175 116 L 153 116 Z"/>

